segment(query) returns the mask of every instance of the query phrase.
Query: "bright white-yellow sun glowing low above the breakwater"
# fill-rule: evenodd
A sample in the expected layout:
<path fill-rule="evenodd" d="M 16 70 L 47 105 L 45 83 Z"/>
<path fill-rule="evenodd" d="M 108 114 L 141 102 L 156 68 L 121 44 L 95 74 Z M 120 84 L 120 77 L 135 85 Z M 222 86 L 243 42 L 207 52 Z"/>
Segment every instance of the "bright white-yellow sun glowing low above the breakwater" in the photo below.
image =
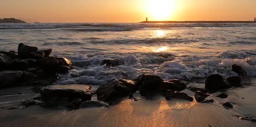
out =
<path fill-rule="evenodd" d="M 148 17 L 153 20 L 168 20 L 174 11 L 173 0 L 148 0 Z"/>

